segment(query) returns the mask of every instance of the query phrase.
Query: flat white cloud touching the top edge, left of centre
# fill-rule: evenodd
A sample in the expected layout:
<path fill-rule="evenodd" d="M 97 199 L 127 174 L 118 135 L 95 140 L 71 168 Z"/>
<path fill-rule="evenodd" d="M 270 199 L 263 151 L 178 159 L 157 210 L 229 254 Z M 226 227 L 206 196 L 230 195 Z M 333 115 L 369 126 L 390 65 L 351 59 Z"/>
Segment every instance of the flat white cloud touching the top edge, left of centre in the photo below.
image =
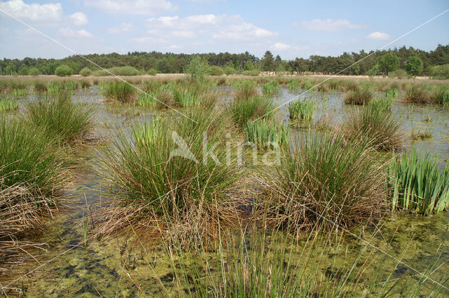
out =
<path fill-rule="evenodd" d="M 100 8 L 108 13 L 133 15 L 155 15 L 161 11 L 173 11 L 176 9 L 176 6 L 166 0 L 86 0 L 84 4 Z"/>

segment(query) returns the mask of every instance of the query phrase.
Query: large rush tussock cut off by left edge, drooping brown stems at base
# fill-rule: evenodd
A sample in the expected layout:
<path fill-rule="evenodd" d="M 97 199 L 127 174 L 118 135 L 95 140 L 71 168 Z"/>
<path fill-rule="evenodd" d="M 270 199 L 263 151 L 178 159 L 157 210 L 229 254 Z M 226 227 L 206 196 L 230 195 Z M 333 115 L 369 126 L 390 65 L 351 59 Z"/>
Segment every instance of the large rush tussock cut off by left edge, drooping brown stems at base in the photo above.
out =
<path fill-rule="evenodd" d="M 35 243 L 22 242 L 41 230 L 60 203 L 67 182 L 66 157 L 51 137 L 15 119 L 0 118 L 0 267 L 17 265 Z"/>

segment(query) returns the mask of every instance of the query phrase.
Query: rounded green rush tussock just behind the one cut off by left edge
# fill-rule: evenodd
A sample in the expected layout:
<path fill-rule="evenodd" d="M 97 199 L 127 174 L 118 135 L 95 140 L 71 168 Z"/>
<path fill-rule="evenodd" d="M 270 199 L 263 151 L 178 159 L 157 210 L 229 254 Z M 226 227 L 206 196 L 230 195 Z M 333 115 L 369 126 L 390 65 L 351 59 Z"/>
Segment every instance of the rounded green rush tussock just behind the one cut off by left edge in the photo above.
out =
<path fill-rule="evenodd" d="M 85 142 L 93 129 L 93 108 L 76 104 L 67 91 L 46 95 L 25 105 L 23 118 L 62 145 Z"/>

